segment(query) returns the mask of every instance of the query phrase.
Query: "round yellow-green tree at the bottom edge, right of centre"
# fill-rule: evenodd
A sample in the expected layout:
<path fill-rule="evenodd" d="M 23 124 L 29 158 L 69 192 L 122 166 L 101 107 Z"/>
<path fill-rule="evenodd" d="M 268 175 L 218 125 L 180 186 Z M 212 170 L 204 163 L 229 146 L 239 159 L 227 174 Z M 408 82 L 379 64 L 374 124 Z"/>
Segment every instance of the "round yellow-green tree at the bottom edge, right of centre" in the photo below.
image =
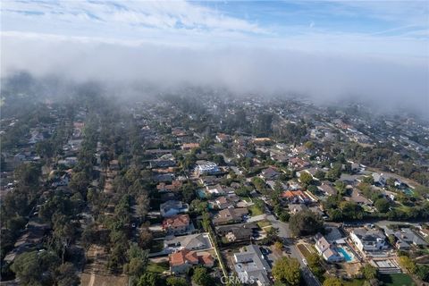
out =
<path fill-rule="evenodd" d="M 276 281 L 287 283 L 290 286 L 299 285 L 301 270 L 296 258 L 282 257 L 273 265 L 273 276 Z"/>

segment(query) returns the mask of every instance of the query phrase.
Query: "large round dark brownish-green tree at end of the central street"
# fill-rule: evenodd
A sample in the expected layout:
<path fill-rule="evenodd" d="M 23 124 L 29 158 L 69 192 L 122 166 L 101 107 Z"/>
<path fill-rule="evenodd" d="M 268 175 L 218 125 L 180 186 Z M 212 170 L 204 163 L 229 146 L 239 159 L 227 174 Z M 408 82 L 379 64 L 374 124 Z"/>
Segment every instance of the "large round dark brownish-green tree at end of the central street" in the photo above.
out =
<path fill-rule="evenodd" d="M 294 236 L 315 234 L 323 229 L 324 219 L 320 214 L 302 210 L 290 216 L 289 226 Z"/>

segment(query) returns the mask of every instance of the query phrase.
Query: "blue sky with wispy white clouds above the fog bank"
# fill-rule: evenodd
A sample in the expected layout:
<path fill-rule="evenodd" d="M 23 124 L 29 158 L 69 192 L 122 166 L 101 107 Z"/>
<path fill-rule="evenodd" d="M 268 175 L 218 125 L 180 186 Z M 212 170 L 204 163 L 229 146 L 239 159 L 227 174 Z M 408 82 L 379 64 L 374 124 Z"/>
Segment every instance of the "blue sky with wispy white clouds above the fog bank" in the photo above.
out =
<path fill-rule="evenodd" d="M 5 1 L 2 34 L 427 60 L 428 1 Z"/>

